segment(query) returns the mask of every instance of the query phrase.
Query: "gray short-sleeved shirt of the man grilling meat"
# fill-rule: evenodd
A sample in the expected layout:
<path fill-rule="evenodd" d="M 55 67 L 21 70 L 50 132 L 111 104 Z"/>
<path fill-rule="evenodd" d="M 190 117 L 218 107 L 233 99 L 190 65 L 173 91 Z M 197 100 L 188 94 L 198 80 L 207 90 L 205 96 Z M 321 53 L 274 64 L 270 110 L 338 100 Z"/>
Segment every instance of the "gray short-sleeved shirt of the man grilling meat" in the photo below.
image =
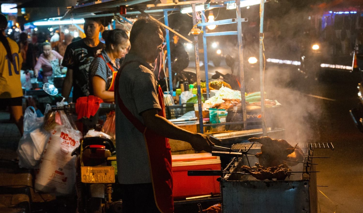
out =
<path fill-rule="evenodd" d="M 126 54 L 127 64 L 119 80 L 119 94 L 132 115 L 144 123 L 141 112 L 157 108 L 158 82 L 151 72 L 152 66 L 134 54 Z M 122 67 L 122 65 L 121 65 Z M 126 118 L 116 100 L 116 153 L 118 180 L 121 184 L 151 183 L 147 145 L 143 134 Z"/>

